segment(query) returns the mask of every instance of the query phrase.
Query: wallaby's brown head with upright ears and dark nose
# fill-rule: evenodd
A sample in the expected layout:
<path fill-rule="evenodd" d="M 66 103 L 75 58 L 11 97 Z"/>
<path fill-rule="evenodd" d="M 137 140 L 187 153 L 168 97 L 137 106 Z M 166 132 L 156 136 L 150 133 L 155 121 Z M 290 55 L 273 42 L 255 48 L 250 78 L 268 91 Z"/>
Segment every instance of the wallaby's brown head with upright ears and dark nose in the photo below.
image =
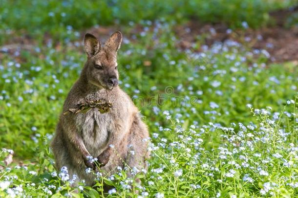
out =
<path fill-rule="evenodd" d="M 87 62 L 85 75 L 89 83 L 112 89 L 118 85 L 117 50 L 122 42 L 122 34 L 114 32 L 102 46 L 99 40 L 87 33 L 84 38 Z"/>

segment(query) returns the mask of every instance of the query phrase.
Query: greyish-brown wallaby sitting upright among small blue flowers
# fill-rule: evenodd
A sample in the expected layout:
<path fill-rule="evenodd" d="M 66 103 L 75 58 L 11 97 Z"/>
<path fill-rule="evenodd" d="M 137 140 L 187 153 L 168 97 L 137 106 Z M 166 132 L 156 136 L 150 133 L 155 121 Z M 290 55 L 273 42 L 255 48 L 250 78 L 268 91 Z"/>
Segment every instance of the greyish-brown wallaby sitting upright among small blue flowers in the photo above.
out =
<path fill-rule="evenodd" d="M 109 37 L 105 46 L 92 34 L 85 34 L 87 61 L 68 93 L 63 112 L 86 101 L 103 98 L 112 108 L 106 113 L 94 108 L 86 113 L 61 114 L 51 143 L 56 168 L 66 166 L 70 178 L 77 175 L 85 179 L 86 185 L 92 185 L 95 177 L 85 169 L 96 169 L 95 163 L 87 159 L 89 156 L 97 157 L 101 171 L 107 175 L 124 164 L 131 169 L 146 168 L 149 157 L 147 126 L 129 96 L 118 86 L 117 51 L 121 42 L 119 31 Z"/>

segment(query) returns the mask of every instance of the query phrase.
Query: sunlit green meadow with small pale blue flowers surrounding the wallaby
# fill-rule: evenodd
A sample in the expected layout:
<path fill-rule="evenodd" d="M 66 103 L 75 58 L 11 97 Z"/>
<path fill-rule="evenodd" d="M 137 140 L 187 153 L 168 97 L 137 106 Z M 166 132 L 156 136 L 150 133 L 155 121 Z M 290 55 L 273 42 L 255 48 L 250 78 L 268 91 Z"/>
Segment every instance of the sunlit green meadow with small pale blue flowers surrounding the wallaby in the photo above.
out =
<path fill-rule="evenodd" d="M 33 2 L 45 6 L 44 13 L 36 9 L 41 12 L 40 20 L 48 16 L 48 7 L 56 5 L 55 1 Z M 166 6 L 156 2 L 147 6 Z M 27 5 L 15 3 L 16 8 Z M 96 3 L 74 5 L 84 10 L 99 7 Z M 9 6 L 12 3 L 6 2 L 6 8 Z M 58 5 L 55 9 L 61 12 L 62 8 Z M 75 10 L 69 14 L 74 16 Z M 156 7 L 149 10 L 158 11 Z M 164 12 L 161 14 L 170 11 Z M 117 14 L 125 19 L 124 13 Z M 16 20 L 15 15 L 8 13 L 6 22 Z M 179 38 L 172 23 L 166 20 L 147 23 L 143 33 L 125 40 L 118 54 L 120 87 L 132 97 L 150 131 L 149 169 L 135 170 L 134 175 L 141 179 L 141 186 L 119 168 L 114 176 L 97 174 L 93 188 L 84 181 L 72 187 L 67 171 L 54 169 L 48 145 L 64 99 L 86 61 L 76 32 L 95 22 L 84 23 L 85 15 L 69 17 L 65 24 L 44 21 L 40 30 L 37 17 L 20 18 L 32 22 L 30 28 L 41 35 L 57 28 L 57 33 L 72 39 L 60 47 L 56 40 L 44 44 L 36 39 L 31 50 L 2 54 L 0 197 L 298 196 L 297 66 L 269 64 L 266 51 L 232 41 L 205 47 L 201 53 L 182 51 L 175 46 Z M 64 25 L 75 19 L 78 26 L 65 31 Z M 4 28 L 8 26 L 5 20 Z M 24 28 L 25 24 L 14 21 L 10 27 Z M 155 31 L 147 30 L 153 26 Z M 14 161 L 6 166 L 4 159 L 12 153 L 9 149 Z M 105 194 L 104 183 L 114 189 Z"/>

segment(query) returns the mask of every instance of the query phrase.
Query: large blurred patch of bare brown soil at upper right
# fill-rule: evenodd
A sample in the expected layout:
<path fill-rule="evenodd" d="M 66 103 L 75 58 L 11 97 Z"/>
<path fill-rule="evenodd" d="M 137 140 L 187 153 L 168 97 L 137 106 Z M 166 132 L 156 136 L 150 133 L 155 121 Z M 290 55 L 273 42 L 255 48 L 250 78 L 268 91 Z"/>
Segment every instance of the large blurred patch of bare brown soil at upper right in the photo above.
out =
<path fill-rule="evenodd" d="M 275 24 L 256 30 L 239 29 L 229 32 L 225 24 L 202 24 L 192 20 L 177 26 L 176 34 L 180 39 L 179 46 L 191 48 L 198 40 L 207 45 L 223 42 L 227 39 L 247 44 L 255 49 L 266 49 L 271 55 L 271 62 L 298 62 L 298 27 L 286 28 L 287 17 L 297 12 L 298 7 L 291 10 L 277 10 L 270 15 Z"/>

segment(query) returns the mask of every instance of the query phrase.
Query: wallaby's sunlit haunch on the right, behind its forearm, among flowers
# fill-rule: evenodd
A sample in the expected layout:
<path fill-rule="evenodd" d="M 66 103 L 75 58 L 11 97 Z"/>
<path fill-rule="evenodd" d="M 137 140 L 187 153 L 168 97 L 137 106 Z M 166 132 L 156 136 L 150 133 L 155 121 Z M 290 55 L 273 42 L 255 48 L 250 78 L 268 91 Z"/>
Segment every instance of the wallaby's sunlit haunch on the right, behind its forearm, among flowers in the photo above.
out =
<path fill-rule="evenodd" d="M 144 168 L 147 169 L 146 160 L 149 158 L 149 152 L 147 151 L 148 137 L 147 126 L 137 114 L 134 117 L 128 137 L 128 154 L 126 157 L 126 163 L 130 167 L 128 176 L 131 176 L 134 168 L 137 168 L 139 171 Z"/>

